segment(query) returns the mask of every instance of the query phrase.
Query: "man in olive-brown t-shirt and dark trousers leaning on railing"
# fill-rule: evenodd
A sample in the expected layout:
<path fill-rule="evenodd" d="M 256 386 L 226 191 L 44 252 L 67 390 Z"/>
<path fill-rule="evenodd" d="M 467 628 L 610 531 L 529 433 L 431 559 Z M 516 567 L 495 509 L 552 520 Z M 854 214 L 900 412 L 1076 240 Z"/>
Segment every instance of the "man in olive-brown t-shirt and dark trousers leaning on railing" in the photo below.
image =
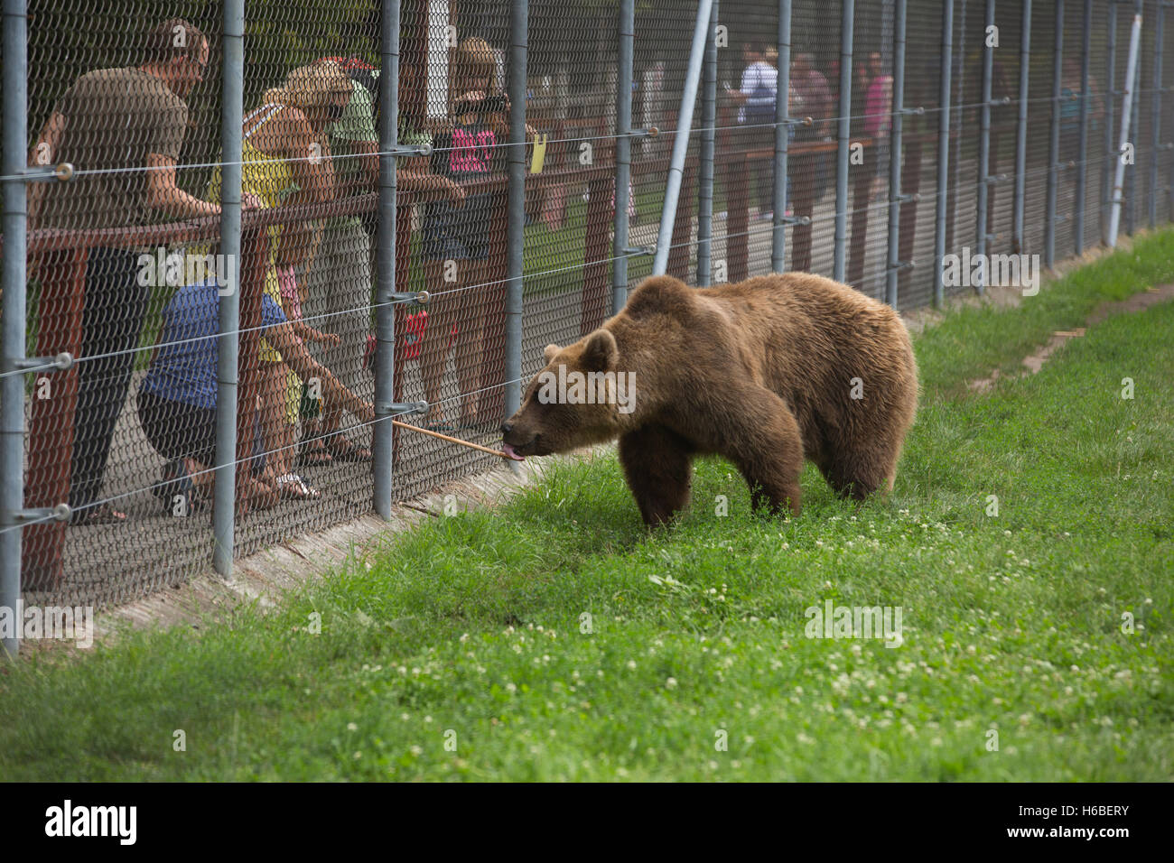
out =
<path fill-rule="evenodd" d="M 144 53 L 142 66 L 86 73 L 54 106 L 29 164 L 69 162 L 87 173 L 65 183 L 29 184 L 29 229 L 135 228 L 163 216 L 220 215 L 217 204 L 176 186 L 176 162 L 188 129 L 184 100 L 203 80 L 208 40 L 175 18 L 147 34 Z M 70 254 L 69 249 L 50 252 L 41 263 Z M 127 518 L 97 499 L 151 292 L 150 279 L 141 278 L 141 254 L 129 247 L 90 247 L 86 258 L 69 465 L 75 525 Z"/>

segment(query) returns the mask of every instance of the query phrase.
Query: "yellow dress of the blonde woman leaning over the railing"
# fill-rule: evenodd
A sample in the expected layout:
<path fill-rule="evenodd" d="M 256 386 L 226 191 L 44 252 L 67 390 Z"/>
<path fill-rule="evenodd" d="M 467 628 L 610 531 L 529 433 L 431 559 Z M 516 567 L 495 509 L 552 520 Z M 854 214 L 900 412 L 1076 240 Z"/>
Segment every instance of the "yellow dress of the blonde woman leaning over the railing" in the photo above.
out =
<path fill-rule="evenodd" d="M 258 114 L 262 115 L 261 120 L 244 134 L 241 142 L 241 191 L 242 194 L 256 195 L 265 207 L 277 207 L 281 204 L 282 195 L 296 184 L 294 182 L 294 173 L 284 159 L 262 153 L 249 141 L 249 137 L 277 114 L 282 107 L 281 104 L 263 104 L 244 120 L 244 124 L 248 126 L 250 120 Z M 221 169 L 217 167 L 208 188 L 210 201 L 220 201 L 221 182 Z M 266 231 L 269 232 L 269 264 L 265 268 L 264 291 L 270 299 L 281 306 L 282 295 L 277 283 L 277 267 L 275 264 L 277 248 L 281 243 L 281 225 L 270 225 L 266 228 Z M 262 363 L 282 362 L 282 355 L 264 338 L 261 339 L 258 358 Z M 290 382 L 285 387 L 285 419 L 290 423 L 297 423 L 298 409 L 302 402 L 302 382 L 292 371 L 289 375 Z"/>

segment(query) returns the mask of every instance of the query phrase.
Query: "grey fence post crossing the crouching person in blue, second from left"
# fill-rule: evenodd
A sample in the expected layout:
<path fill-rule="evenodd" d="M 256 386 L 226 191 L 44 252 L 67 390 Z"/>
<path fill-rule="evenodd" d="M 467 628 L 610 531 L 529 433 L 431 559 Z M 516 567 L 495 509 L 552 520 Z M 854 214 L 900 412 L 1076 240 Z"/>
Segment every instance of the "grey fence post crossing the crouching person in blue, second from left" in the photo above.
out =
<path fill-rule="evenodd" d="M 212 566 L 232 577 L 236 530 L 236 411 L 241 350 L 241 135 L 244 122 L 244 0 L 224 4 L 221 82 L 221 251 L 230 290 L 220 298 L 216 376 L 216 491 Z"/>

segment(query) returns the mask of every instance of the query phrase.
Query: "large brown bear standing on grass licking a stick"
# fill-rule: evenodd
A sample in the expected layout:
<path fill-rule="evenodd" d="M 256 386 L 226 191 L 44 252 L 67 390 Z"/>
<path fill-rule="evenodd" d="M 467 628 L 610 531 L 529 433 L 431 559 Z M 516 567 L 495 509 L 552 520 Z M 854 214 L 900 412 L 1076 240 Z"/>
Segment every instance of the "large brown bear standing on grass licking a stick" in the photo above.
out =
<path fill-rule="evenodd" d="M 545 357 L 501 426 L 506 454 L 619 438 L 649 526 L 688 505 L 699 454 L 733 461 L 755 510 L 799 512 L 804 458 L 842 495 L 891 491 L 917 411 L 897 313 L 807 272 L 703 289 L 654 276 L 600 329 Z"/>

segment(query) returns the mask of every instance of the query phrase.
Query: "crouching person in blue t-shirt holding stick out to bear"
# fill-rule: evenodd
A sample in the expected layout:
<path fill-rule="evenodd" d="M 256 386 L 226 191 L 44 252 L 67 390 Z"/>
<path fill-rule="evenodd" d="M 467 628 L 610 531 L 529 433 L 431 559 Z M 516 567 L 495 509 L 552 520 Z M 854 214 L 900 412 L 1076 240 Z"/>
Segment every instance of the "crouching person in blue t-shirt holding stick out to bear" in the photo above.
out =
<path fill-rule="evenodd" d="M 214 278 L 180 288 L 163 309 L 163 326 L 147 378 L 139 387 L 139 420 L 150 445 L 167 459 L 154 493 L 169 515 L 188 515 L 211 495 L 216 463 L 216 392 L 220 290 Z M 303 380 L 316 380 L 323 392 L 360 422 L 375 422 L 369 402 L 345 387 L 305 348 L 305 332 L 290 322 L 269 295 L 261 298 L 264 338 L 281 351 Z M 258 398 L 258 407 L 264 410 Z M 259 419 L 259 413 L 258 413 Z M 259 423 L 254 452 L 264 450 Z M 238 490 L 238 499 L 262 508 L 272 506 L 283 486 L 294 481 L 279 465 L 261 459 Z M 178 498 L 178 499 L 177 499 Z"/>

